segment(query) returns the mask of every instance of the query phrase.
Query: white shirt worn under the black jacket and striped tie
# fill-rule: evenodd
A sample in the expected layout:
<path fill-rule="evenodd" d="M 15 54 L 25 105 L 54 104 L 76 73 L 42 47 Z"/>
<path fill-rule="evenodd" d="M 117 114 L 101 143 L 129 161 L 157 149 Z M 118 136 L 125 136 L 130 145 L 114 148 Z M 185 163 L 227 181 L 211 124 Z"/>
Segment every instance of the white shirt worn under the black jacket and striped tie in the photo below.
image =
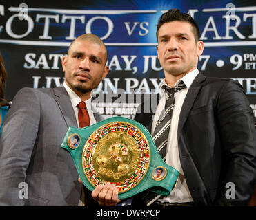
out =
<path fill-rule="evenodd" d="M 160 202 L 169 202 L 169 203 L 183 203 L 183 202 L 191 202 L 193 201 L 190 192 L 188 190 L 188 185 L 186 184 L 186 179 L 184 178 L 184 173 L 181 168 L 181 162 L 179 159 L 179 146 L 178 146 L 178 135 L 177 135 L 177 129 L 179 124 L 179 113 L 181 111 L 181 107 L 183 105 L 184 99 L 186 98 L 186 94 L 188 93 L 188 89 L 190 85 L 193 83 L 193 80 L 195 77 L 199 74 L 198 69 L 194 69 L 192 72 L 189 72 L 184 77 L 182 77 L 180 80 L 178 80 L 175 83 L 175 87 L 179 84 L 179 82 L 182 80 L 186 88 L 181 89 L 178 92 L 175 92 L 175 104 L 173 107 L 173 115 L 172 115 L 172 121 L 170 124 L 170 133 L 168 137 L 168 143 L 166 148 L 166 164 L 169 166 L 173 166 L 178 172 L 179 177 L 177 179 L 177 184 L 175 188 L 170 192 L 170 195 L 167 197 L 161 197 L 158 199 Z M 161 89 L 163 85 L 167 85 L 166 81 L 163 80 L 160 84 L 160 100 L 159 104 L 157 105 L 157 110 L 155 113 L 155 118 L 152 122 L 152 131 L 153 134 L 155 131 L 155 125 L 157 124 L 157 120 L 159 118 L 159 115 L 161 111 L 164 109 L 166 104 L 166 98 L 168 96 L 168 92 L 164 91 L 164 89 Z"/>

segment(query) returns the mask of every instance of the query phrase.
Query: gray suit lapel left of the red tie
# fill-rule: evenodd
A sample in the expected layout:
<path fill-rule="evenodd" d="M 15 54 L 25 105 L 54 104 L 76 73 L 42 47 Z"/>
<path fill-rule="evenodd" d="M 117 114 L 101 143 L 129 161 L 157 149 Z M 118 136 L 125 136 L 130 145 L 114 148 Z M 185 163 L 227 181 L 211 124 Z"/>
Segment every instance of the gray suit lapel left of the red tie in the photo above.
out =
<path fill-rule="evenodd" d="M 63 115 L 63 118 L 67 124 L 67 127 L 69 126 L 75 126 L 77 127 L 77 120 L 75 118 L 75 112 L 72 107 L 70 97 L 68 96 L 68 93 L 63 87 L 63 85 L 56 87 L 52 89 L 53 91 L 53 97 L 55 98 L 59 109 L 61 109 L 61 113 Z"/>

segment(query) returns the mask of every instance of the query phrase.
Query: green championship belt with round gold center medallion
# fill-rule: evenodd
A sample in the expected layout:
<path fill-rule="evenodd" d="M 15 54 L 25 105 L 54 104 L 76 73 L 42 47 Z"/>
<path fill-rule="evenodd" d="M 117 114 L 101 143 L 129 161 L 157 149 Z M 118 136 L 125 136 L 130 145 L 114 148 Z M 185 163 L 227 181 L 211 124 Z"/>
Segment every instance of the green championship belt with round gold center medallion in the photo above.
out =
<path fill-rule="evenodd" d="M 128 118 L 112 117 L 82 129 L 70 126 L 61 148 L 70 153 L 86 188 L 115 183 L 119 199 L 147 189 L 169 195 L 179 175 L 161 159 L 148 130 Z"/>

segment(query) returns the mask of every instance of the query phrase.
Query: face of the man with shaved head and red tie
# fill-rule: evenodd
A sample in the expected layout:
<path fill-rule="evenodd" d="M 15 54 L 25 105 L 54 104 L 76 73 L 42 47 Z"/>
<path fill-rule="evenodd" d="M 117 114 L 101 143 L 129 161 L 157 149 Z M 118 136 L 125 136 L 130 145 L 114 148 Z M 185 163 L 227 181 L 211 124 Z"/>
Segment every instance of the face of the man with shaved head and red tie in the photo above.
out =
<path fill-rule="evenodd" d="M 77 94 L 92 91 L 108 74 L 105 63 L 103 45 L 77 39 L 70 46 L 68 57 L 62 60 L 67 85 Z"/>

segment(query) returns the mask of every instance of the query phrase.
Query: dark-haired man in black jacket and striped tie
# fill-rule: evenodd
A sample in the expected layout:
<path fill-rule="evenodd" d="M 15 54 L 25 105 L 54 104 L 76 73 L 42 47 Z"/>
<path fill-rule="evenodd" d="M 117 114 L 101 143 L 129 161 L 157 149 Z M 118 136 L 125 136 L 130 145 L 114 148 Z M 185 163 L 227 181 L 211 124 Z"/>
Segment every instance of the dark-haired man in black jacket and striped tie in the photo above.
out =
<path fill-rule="evenodd" d="M 144 107 L 154 103 L 145 103 L 155 99 L 147 100 L 135 120 L 157 138 L 155 130 L 164 120 L 161 112 L 166 109 L 169 88 L 185 85 L 171 95 L 174 105 L 163 156 L 179 171 L 179 177 L 167 197 L 147 192 L 135 197 L 133 205 L 247 206 L 255 186 L 256 131 L 244 89 L 235 80 L 199 73 L 204 43 L 190 15 L 177 9 L 164 13 L 157 25 L 157 41 L 165 74 L 157 108 L 147 112 Z"/>

